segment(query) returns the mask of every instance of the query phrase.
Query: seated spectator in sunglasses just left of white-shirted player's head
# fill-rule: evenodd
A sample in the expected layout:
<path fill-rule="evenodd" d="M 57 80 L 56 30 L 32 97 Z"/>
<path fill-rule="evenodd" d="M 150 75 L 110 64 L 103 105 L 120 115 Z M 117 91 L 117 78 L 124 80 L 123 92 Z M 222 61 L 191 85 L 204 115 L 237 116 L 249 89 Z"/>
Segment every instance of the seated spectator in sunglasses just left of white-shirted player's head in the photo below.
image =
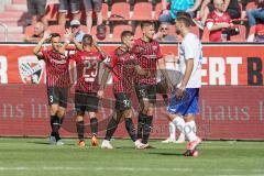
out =
<path fill-rule="evenodd" d="M 161 23 L 157 33 L 155 34 L 155 40 L 158 42 L 176 42 L 177 38 L 174 35 L 168 34 L 168 23 Z"/>

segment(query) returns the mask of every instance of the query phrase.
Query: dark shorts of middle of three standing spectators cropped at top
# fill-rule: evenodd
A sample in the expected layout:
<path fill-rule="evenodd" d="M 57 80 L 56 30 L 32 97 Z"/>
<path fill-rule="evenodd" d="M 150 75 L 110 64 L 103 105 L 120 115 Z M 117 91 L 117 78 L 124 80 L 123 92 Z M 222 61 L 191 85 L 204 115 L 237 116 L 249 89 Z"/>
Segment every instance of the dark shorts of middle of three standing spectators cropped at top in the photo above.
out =
<path fill-rule="evenodd" d="M 65 12 L 70 9 L 70 13 L 78 13 L 80 9 L 80 0 L 59 0 L 59 12 Z"/>

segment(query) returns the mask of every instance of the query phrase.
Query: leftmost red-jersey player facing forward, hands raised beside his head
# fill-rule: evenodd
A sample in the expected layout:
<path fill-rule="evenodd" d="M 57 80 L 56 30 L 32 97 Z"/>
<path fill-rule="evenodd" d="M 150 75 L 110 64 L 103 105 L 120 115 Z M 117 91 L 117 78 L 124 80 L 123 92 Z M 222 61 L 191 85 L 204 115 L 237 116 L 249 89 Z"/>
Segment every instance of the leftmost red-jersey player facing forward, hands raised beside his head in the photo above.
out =
<path fill-rule="evenodd" d="M 41 51 L 45 41 L 51 40 L 52 50 Z M 34 54 L 38 59 L 44 59 L 46 63 L 46 85 L 47 98 L 51 107 L 51 127 L 52 133 L 50 136 L 51 144 L 63 145 L 58 130 L 62 125 L 65 110 L 67 107 L 69 79 L 69 59 L 65 55 L 65 48 L 69 41 L 66 41 L 62 46 L 61 35 L 57 33 L 44 33 L 43 38 L 34 48 Z"/>

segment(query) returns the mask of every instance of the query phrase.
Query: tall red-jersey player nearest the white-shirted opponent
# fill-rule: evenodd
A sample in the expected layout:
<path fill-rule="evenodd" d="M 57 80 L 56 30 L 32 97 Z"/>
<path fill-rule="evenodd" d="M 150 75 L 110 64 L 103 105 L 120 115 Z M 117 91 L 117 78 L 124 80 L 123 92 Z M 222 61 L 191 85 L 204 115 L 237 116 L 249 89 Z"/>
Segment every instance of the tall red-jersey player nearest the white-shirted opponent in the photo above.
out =
<path fill-rule="evenodd" d="M 138 75 L 135 78 L 135 92 L 141 105 L 138 122 L 138 140 L 147 147 L 153 120 L 153 110 L 156 101 L 156 66 L 165 77 L 168 88 L 172 81 L 165 69 L 165 63 L 157 41 L 153 40 L 155 31 L 152 22 L 141 23 L 143 36 L 135 41 L 133 53 L 136 55 L 139 65 L 151 72 L 150 77 Z"/>

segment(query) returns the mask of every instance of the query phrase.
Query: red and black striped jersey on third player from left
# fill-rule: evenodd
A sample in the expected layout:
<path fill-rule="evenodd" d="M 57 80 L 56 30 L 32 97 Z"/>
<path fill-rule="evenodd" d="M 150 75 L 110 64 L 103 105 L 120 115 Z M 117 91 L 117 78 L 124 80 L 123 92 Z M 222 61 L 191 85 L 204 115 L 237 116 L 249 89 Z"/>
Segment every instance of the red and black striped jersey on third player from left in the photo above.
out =
<path fill-rule="evenodd" d="M 136 56 L 118 47 L 110 56 L 113 74 L 113 92 L 130 92 L 136 76 Z"/>

